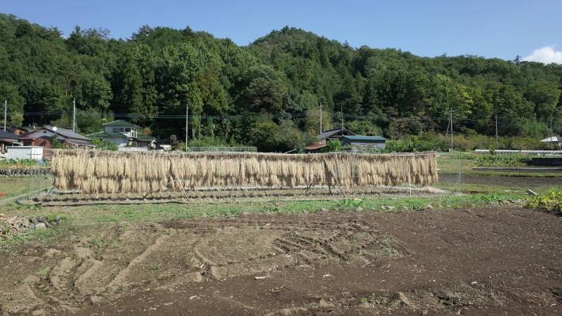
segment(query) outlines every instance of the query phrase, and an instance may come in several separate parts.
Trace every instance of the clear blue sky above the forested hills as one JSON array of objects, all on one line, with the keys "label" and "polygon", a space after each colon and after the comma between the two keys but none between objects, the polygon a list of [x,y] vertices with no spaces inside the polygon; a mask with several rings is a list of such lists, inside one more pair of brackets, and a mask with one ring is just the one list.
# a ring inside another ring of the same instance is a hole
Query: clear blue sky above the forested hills
[{"label": "clear blue sky above the forested hills", "polygon": [[354,47],[562,63],[562,0],[1,0],[0,12],[65,35],[74,25],[105,27],[115,38],[130,37],[141,25],[189,25],[247,45],[289,25]]}]

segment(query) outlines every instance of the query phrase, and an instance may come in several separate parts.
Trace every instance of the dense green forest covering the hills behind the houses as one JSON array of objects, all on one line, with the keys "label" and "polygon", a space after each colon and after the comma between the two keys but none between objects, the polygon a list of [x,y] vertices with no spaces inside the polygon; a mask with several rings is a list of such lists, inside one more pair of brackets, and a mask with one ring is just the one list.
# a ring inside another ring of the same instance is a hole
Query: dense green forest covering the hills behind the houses
[{"label": "dense green forest covering the hills behind the houses", "polygon": [[[0,13],[0,100],[8,125],[100,131],[128,119],[190,145],[301,149],[320,128],[401,138],[455,133],[542,138],[562,128],[562,65],[473,55],[421,58],[353,48],[284,27],[248,46],[190,27],[142,26],[131,39],[76,27],[67,37]],[[3,119],[3,118],[2,118]],[[193,130],[192,130],[193,128]],[[148,131],[148,129],[147,129]]]}]

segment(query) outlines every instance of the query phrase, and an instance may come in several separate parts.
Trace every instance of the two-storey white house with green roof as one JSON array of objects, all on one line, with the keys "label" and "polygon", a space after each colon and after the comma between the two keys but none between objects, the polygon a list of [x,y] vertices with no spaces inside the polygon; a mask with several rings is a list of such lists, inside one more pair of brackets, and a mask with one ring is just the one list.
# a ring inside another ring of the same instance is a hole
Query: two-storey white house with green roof
[{"label": "two-storey white house with green roof", "polygon": [[141,126],[129,123],[122,119],[110,121],[104,124],[103,131],[90,134],[89,138],[100,138],[116,143],[118,147],[126,147],[133,142],[138,143],[138,147],[156,147],[156,138],[149,135],[139,135],[138,130]]}]

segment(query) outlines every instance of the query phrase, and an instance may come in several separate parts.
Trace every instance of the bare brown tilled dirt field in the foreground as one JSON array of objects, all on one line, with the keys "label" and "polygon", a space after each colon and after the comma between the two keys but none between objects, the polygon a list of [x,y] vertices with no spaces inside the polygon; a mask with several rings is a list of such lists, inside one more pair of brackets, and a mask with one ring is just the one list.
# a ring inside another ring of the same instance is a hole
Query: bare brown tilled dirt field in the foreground
[{"label": "bare brown tilled dirt field in the foreground", "polygon": [[562,315],[561,244],[518,206],[78,228],[0,253],[0,314]]}]

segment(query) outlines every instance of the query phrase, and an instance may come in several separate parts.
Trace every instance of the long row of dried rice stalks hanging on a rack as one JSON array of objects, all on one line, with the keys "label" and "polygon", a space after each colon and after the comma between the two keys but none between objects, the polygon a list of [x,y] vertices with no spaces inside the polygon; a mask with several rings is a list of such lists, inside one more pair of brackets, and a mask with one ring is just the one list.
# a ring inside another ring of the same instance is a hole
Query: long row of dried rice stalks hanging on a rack
[{"label": "long row of dried rice stalks hanging on a rack", "polygon": [[[53,184],[84,192],[161,192],[186,187],[403,185],[437,180],[434,154],[270,154],[53,150]],[[84,183],[84,185],[82,185]]]}]

